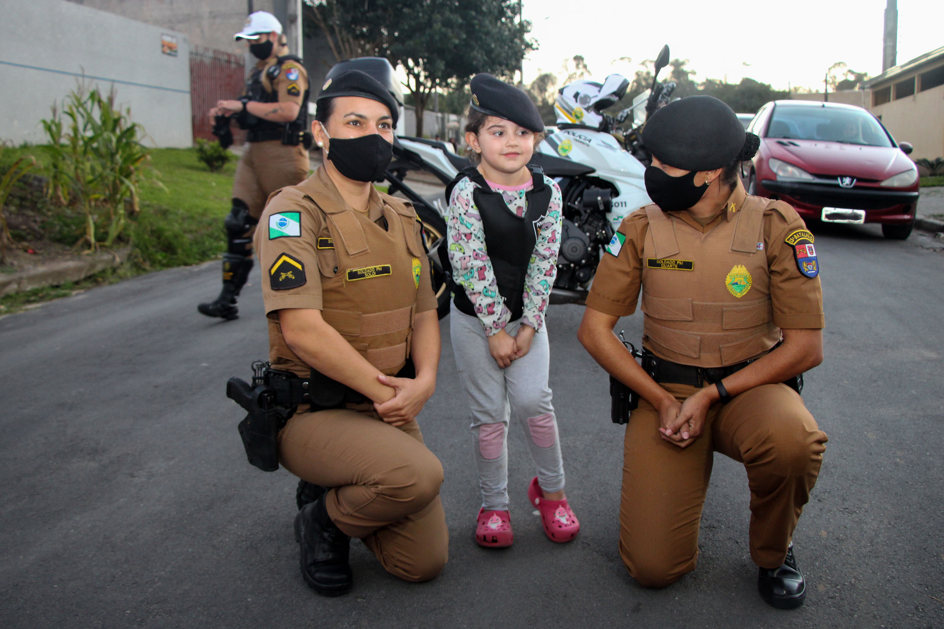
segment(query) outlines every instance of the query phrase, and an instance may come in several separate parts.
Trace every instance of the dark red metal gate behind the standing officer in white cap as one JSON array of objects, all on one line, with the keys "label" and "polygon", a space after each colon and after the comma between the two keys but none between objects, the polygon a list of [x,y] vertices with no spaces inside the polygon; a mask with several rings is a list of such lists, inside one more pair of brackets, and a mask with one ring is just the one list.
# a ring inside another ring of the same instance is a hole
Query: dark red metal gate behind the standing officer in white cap
[{"label": "dark red metal gate behind the standing officer in white cap", "polygon": [[[221,98],[235,99],[244,91],[244,58],[205,46],[190,49],[190,104],[193,111],[194,140],[215,140],[213,124],[207,115]],[[233,128],[236,143],[244,141],[244,132]]]}]

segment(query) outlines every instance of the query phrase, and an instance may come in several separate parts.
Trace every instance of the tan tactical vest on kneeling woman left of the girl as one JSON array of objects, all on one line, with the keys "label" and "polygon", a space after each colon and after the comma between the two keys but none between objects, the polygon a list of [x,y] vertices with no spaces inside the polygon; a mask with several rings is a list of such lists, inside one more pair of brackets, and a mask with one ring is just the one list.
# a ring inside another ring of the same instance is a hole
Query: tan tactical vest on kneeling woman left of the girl
[{"label": "tan tactical vest on kneeling woman left of the girl", "polygon": [[[317,179],[312,176],[279,194],[322,216],[322,233],[312,242],[321,273],[321,316],[367,362],[393,375],[410,356],[420,260],[426,255],[413,231],[416,213],[402,200],[380,194],[384,230],[366,212],[339,205]],[[308,376],[309,367],[288,347],[273,319],[269,360],[273,367]]]}]

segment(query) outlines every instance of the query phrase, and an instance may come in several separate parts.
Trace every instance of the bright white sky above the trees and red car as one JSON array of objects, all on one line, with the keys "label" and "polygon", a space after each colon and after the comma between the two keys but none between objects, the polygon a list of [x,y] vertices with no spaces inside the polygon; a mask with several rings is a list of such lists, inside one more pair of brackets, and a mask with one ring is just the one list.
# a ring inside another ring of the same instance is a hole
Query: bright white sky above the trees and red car
[{"label": "bright white sky above the trees and red car", "polygon": [[[539,49],[524,80],[540,72],[563,78],[565,58],[582,55],[593,73],[632,79],[639,62],[668,44],[688,59],[693,78],[732,83],[750,76],[774,89],[822,90],[837,61],[870,76],[882,72],[886,0],[524,0]],[[898,1],[898,63],[944,46],[944,2]],[[629,57],[631,62],[615,59]]]}]

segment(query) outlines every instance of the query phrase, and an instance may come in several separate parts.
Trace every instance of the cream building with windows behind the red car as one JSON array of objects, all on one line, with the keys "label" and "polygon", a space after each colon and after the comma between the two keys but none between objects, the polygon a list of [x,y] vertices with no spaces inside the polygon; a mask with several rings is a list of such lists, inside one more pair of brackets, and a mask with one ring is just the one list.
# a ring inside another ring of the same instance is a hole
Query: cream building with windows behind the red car
[{"label": "cream building with windows behind the red car", "polygon": [[944,156],[944,46],[888,68],[865,87],[871,112],[895,140],[914,145],[912,158]]}]

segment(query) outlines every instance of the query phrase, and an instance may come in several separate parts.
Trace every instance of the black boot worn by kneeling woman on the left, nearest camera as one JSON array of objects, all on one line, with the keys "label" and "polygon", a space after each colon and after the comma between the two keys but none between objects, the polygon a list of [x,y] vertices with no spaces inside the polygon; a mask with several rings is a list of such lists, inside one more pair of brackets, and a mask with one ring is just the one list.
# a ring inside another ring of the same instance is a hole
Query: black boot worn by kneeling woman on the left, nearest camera
[{"label": "black boot worn by kneeling woman on the left, nearest camera", "polygon": [[295,516],[295,539],[301,547],[301,575],[322,596],[340,596],[354,586],[347,563],[350,539],[335,526],[325,508],[326,494]]}]

